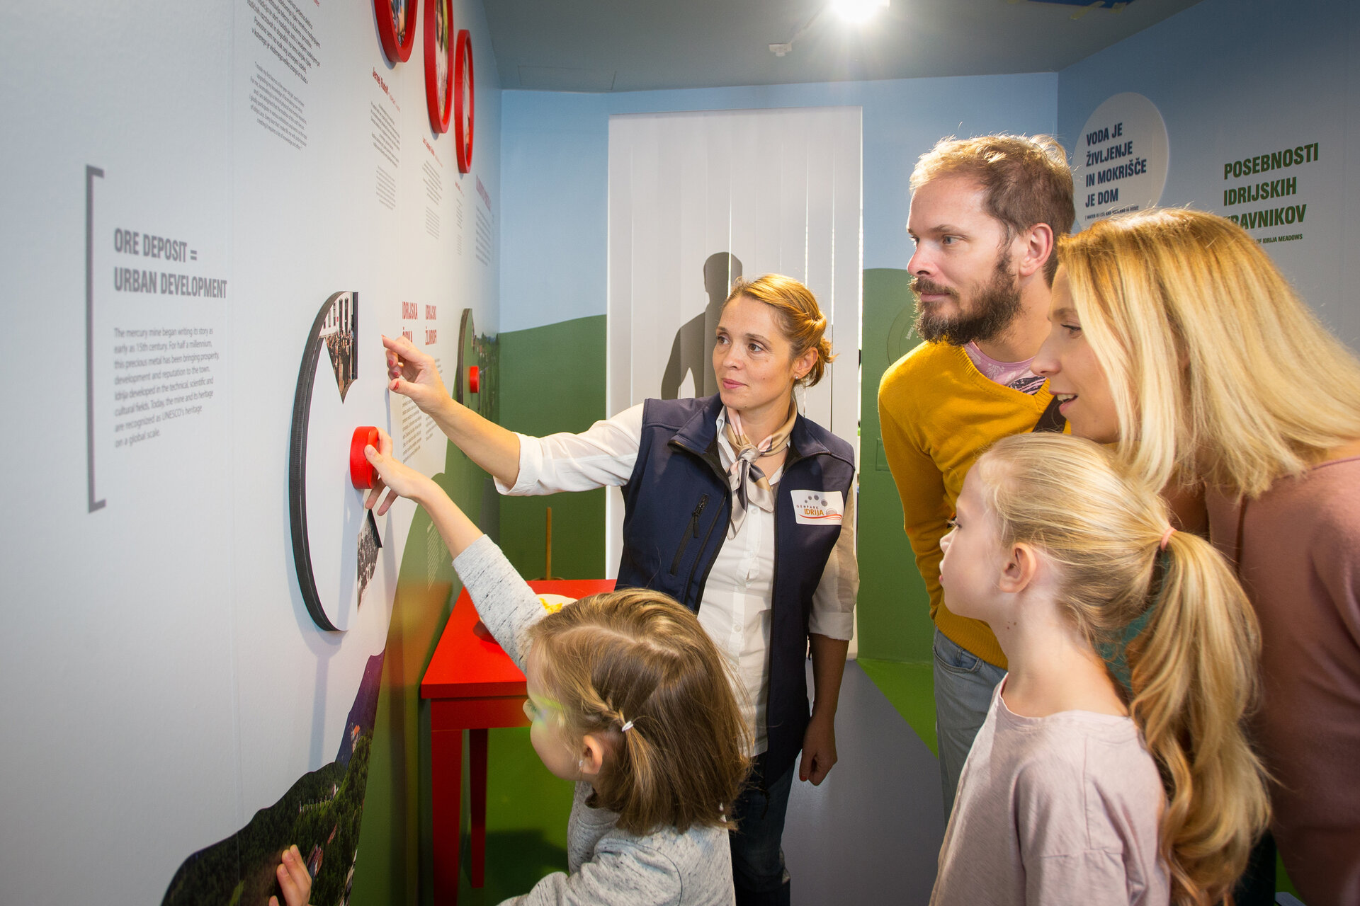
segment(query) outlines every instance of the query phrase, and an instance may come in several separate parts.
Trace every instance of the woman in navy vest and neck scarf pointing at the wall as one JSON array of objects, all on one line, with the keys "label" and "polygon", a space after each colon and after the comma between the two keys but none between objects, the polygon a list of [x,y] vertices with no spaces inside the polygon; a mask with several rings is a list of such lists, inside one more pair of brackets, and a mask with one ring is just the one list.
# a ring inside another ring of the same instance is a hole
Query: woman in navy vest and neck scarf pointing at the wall
[{"label": "woman in navy vest and neck scarf pointing at the wall", "polygon": [[392,391],[428,413],[502,493],[622,486],[619,587],[661,591],[698,613],[737,676],[755,740],[752,778],[734,805],[737,906],[789,902],[781,839],[794,773],[820,784],[836,762],[860,579],[854,451],[800,414],[793,397],[831,361],[826,327],[797,280],[737,280],[718,316],[715,395],[649,399],[585,433],[547,437],[460,406],[432,359],[384,337]]}]

